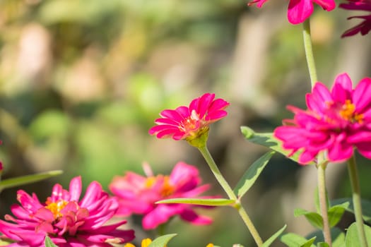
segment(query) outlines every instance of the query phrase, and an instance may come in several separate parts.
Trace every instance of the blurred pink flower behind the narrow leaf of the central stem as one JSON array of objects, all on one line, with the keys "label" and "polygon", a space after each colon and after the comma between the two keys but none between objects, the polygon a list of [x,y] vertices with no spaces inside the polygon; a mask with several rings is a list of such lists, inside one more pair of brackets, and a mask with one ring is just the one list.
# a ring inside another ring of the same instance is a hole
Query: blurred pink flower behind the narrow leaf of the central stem
[{"label": "blurred pink flower behind the narrow leaf of the central stem", "polygon": [[196,167],[178,162],[170,176],[141,176],[129,171],[115,176],[109,187],[119,198],[117,215],[143,215],[143,229],[155,229],[175,215],[192,224],[211,224],[210,218],[196,214],[194,205],[155,204],[170,198],[197,198],[209,188],[200,183]]}]

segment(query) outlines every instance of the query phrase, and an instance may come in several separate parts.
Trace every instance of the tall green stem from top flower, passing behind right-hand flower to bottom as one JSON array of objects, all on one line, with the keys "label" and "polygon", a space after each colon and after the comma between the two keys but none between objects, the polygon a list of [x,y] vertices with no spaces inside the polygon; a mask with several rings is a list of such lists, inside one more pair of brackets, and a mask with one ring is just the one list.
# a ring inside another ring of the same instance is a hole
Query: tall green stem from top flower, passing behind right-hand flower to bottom
[{"label": "tall green stem from top flower, passing behind right-hand flower to bottom", "polygon": [[[314,62],[314,54],[312,48],[312,37],[310,35],[310,18],[302,23],[302,38],[304,41],[305,57],[307,59],[308,71],[310,74],[310,85],[314,88],[317,82],[317,70],[316,64]],[[320,153],[317,156],[317,181],[318,181],[318,193],[319,193],[319,205],[321,207],[321,215],[324,224],[324,241],[331,247],[331,229],[329,225],[329,215],[327,212],[327,200],[326,200],[326,180],[325,180],[325,170],[326,162],[324,161],[324,154]]]}]

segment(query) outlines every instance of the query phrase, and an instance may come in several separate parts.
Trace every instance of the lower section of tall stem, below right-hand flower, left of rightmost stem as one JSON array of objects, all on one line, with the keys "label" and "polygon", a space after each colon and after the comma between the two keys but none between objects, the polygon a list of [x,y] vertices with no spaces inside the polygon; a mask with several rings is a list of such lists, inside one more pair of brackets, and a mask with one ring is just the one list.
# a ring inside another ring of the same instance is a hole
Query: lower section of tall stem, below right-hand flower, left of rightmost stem
[{"label": "lower section of tall stem, below right-hand flower, left of rightmost stem", "polygon": [[329,215],[327,209],[327,198],[326,198],[326,179],[325,179],[325,171],[326,171],[327,162],[322,162],[317,167],[317,183],[318,183],[318,196],[319,196],[319,207],[321,210],[321,215],[324,224],[324,241],[332,246],[331,241],[331,229],[329,224]]}]

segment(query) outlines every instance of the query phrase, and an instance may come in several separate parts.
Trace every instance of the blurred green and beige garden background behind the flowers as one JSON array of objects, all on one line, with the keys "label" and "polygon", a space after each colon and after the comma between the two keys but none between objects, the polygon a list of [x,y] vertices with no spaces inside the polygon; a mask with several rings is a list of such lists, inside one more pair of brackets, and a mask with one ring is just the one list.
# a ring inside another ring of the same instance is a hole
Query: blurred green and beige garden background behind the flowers
[{"label": "blurred green and beige garden background behind the flowers", "polygon": [[[292,116],[285,105],[305,107],[310,91],[302,27],[288,23],[282,2],[259,9],[237,0],[1,0],[3,178],[63,169],[61,176],[22,188],[45,200],[54,183],[68,186],[73,176],[81,174],[84,186],[97,180],[107,188],[115,174],[143,174],[142,162],[167,174],[182,160],[213,184],[208,195],[223,195],[196,149],[158,140],[148,129],[162,109],[189,104],[204,92],[228,100],[229,115],[211,126],[209,147],[235,186],[266,152],[247,143],[240,126],[273,131]],[[318,77],[327,85],[338,73],[349,73],[354,83],[371,76],[370,36],[340,39],[357,22],[348,16],[316,8],[312,18]],[[371,198],[370,164],[359,160],[363,197]],[[331,198],[351,196],[345,168],[329,166]],[[263,239],[285,223],[298,234],[313,230],[293,217],[293,209],[314,208],[316,183],[314,167],[273,157],[244,199]],[[0,215],[16,203],[18,189],[1,193]],[[167,233],[178,236],[170,246],[254,246],[232,209],[204,213],[215,218],[211,227],[173,220]],[[134,222],[129,227],[137,229]],[[139,238],[152,234],[136,232]]]}]

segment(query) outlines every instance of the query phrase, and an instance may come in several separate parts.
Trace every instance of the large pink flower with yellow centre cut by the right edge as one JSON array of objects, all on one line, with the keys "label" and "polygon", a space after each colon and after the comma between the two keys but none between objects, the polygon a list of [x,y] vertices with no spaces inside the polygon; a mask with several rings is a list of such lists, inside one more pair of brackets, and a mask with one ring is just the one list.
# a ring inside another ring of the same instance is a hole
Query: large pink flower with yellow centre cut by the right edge
[{"label": "large pink flower with yellow centre cut by the right edge", "polygon": [[371,159],[371,78],[363,78],[353,89],[351,78],[343,73],[329,91],[316,83],[307,94],[308,109],[293,106],[295,116],[286,119],[286,126],[276,128],[274,135],[283,147],[302,150],[299,162],[311,162],[325,151],[331,162],[342,162],[353,155],[353,147]]}]

